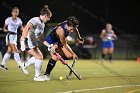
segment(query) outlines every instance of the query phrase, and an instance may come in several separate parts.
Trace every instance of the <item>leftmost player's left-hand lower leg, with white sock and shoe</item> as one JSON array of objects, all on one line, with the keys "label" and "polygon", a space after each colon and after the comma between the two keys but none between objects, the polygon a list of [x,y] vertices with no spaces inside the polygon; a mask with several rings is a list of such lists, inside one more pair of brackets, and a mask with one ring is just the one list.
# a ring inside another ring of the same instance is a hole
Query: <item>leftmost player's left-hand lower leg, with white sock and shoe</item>
[{"label": "leftmost player's left-hand lower leg, with white sock and shoe", "polygon": [[9,60],[10,56],[11,56],[11,52],[12,49],[10,48],[10,46],[7,46],[7,52],[5,53],[2,63],[0,65],[1,68],[3,68],[4,70],[7,70],[8,68],[6,67],[6,63]]}]

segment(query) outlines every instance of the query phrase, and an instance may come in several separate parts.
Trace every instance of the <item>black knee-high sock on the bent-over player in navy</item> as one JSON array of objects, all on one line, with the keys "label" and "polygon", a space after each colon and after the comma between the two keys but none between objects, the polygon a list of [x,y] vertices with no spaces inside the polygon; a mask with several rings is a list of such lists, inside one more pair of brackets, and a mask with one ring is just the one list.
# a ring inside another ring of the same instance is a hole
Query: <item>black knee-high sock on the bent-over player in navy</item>
[{"label": "black knee-high sock on the bent-over player in navy", "polygon": [[51,58],[49,60],[49,63],[47,65],[46,72],[45,72],[44,75],[50,75],[50,73],[51,73],[52,69],[54,68],[55,64],[56,64],[56,61]]}]

